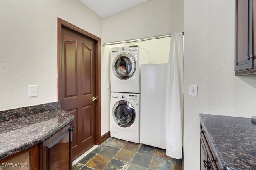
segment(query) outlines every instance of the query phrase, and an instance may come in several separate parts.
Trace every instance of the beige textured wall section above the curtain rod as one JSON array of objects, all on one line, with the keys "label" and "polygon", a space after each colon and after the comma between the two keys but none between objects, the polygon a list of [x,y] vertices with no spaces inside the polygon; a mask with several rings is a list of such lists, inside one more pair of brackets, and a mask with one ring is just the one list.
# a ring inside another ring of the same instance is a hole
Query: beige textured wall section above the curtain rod
[{"label": "beige textured wall section above the curtain rod", "polygon": [[183,0],[150,0],[103,19],[103,43],[183,31]]}]

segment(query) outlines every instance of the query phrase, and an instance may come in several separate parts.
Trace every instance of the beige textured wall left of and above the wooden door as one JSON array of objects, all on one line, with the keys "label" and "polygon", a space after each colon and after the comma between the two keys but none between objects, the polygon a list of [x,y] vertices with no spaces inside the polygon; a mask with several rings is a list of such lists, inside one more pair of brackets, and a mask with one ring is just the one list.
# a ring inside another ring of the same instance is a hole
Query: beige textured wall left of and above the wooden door
[{"label": "beige textured wall left of and above the wooden door", "polygon": [[[0,110],[57,101],[57,17],[98,37],[102,18],[78,0],[0,4]],[[28,98],[34,84],[38,96]]]}]

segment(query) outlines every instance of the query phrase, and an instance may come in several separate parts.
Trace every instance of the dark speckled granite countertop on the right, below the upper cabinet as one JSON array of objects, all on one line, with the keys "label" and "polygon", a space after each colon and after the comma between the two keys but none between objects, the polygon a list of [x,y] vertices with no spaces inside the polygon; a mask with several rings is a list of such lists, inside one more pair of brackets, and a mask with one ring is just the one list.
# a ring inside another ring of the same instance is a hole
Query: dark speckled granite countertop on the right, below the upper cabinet
[{"label": "dark speckled granite countertop on the right, below the upper cabinet", "polygon": [[250,118],[199,116],[224,170],[256,170],[256,125]]}]

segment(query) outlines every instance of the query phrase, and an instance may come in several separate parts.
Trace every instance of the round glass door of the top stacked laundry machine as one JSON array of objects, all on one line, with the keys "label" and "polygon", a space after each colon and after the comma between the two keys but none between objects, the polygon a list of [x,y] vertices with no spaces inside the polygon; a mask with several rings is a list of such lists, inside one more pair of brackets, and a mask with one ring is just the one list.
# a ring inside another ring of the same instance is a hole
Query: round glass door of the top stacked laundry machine
[{"label": "round glass door of the top stacked laundry machine", "polygon": [[128,79],[136,70],[135,60],[132,55],[128,53],[120,53],[114,59],[112,70],[117,78],[121,80]]}]

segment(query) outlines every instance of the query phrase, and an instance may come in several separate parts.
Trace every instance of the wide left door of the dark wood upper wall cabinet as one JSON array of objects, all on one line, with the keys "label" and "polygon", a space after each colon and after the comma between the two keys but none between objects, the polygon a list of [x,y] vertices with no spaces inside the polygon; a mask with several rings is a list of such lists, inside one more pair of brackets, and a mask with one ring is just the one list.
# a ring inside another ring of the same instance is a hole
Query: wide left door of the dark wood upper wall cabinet
[{"label": "wide left door of the dark wood upper wall cabinet", "polygon": [[235,70],[252,68],[252,0],[236,0]]}]

